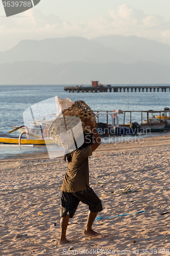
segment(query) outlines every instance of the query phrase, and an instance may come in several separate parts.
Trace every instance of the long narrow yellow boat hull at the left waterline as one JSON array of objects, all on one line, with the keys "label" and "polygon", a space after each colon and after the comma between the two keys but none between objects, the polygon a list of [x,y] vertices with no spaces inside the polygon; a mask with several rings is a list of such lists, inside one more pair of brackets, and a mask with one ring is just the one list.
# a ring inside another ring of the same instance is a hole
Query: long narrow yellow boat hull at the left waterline
[{"label": "long narrow yellow boat hull at the left waterline", "polygon": [[[18,138],[7,138],[0,137],[0,143],[2,144],[19,144]],[[20,144],[34,144],[34,145],[45,145],[45,144],[54,144],[52,139],[21,139]]]}]

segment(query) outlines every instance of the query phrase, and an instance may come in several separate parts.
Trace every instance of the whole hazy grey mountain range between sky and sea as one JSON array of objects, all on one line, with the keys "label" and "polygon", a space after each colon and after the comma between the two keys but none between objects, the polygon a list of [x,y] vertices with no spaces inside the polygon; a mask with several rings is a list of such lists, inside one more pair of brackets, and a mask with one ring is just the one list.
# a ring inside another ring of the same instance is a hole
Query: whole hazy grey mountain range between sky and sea
[{"label": "whole hazy grey mountain range between sky and sea", "polygon": [[0,84],[169,83],[170,46],[136,36],[23,40],[0,52]]}]

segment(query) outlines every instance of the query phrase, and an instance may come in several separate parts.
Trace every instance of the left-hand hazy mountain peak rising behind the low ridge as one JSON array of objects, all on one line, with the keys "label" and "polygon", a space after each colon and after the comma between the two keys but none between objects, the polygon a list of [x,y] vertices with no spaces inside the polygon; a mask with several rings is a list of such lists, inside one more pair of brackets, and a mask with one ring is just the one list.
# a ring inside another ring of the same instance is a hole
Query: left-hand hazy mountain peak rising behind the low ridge
[{"label": "left-hand hazy mountain peak rising behind the low ridge", "polygon": [[66,37],[40,41],[23,40],[12,49],[0,52],[0,64],[16,61],[40,61],[54,64],[72,61],[134,63],[138,59],[83,37]]}]

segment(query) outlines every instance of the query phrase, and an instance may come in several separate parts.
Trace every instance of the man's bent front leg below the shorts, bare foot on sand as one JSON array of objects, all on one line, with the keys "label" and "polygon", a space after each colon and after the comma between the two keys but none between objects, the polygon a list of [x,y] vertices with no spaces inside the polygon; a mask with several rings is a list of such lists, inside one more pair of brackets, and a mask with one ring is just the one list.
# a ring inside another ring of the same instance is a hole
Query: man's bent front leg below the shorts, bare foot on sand
[{"label": "man's bent front leg below the shorts, bare foot on sand", "polygon": [[83,234],[85,234],[85,236],[90,236],[90,237],[101,236],[101,233],[98,233],[98,232],[95,232],[94,230],[92,230],[92,224],[97,215],[98,215],[98,212],[92,212],[89,210],[87,224],[83,231]]}]

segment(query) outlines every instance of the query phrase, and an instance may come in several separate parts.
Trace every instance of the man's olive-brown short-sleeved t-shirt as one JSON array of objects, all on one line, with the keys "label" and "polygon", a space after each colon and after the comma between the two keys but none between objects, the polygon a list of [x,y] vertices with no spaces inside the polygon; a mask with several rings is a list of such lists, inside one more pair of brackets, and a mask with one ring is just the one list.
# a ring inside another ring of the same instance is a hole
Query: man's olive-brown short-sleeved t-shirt
[{"label": "man's olive-brown short-sleeved t-shirt", "polygon": [[88,157],[92,156],[91,146],[71,153],[72,159],[68,163],[61,190],[64,192],[79,192],[89,186]]}]

